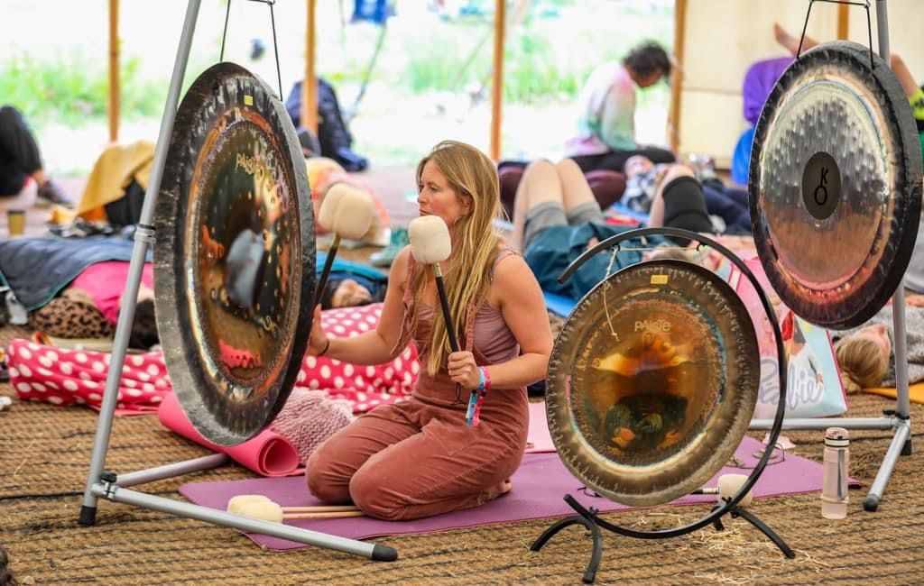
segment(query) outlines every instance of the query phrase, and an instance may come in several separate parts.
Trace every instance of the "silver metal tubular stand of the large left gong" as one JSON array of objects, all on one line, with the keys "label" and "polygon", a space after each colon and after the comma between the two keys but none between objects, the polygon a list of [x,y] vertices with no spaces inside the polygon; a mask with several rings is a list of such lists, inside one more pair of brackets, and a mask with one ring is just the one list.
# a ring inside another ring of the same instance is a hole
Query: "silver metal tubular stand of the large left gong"
[{"label": "silver metal tubular stand of the large left gong", "polygon": [[[274,0],[257,0],[268,4],[271,8]],[[166,464],[149,470],[118,474],[104,470],[106,451],[112,433],[113,417],[118,398],[119,381],[125,362],[128,348],[128,337],[135,314],[135,300],[140,288],[141,270],[148,253],[148,247],[154,244],[154,218],[155,201],[160,193],[161,182],[164,177],[164,166],[167,160],[171,143],[171,134],[176,120],[177,104],[188,64],[189,51],[192,44],[193,32],[199,13],[201,0],[188,0],[183,30],[176,50],[173,75],[170,79],[167,99],[164,105],[164,116],[161,121],[157,145],[154,151],[151,180],[144,197],[140,221],[135,232],[135,244],[132,249],[131,263],[128,269],[125,299],[126,303],[119,313],[116,325],[116,337],[111,356],[111,368],[106,378],[103,404],[93,442],[93,451],[90,472],[87,476],[86,489],[83,495],[83,504],[80,508],[79,523],[81,525],[94,525],[96,522],[97,500],[105,498],[118,503],[125,503],[134,507],[150,508],[152,510],[169,513],[177,517],[196,519],[216,525],[231,527],[243,532],[255,532],[272,535],[296,541],[303,544],[317,545],[337,551],[365,556],[374,560],[393,561],[397,559],[394,548],[382,544],[371,544],[353,539],[346,539],[322,532],[291,527],[282,523],[273,523],[265,520],[256,520],[240,515],[233,515],[213,508],[191,505],[186,502],[163,496],[153,496],[128,486],[144,484],[165,478],[173,478],[188,472],[197,472],[215,468],[228,461],[225,454],[213,454],[195,460],[186,460]],[[294,134],[294,130],[293,130]]]}]

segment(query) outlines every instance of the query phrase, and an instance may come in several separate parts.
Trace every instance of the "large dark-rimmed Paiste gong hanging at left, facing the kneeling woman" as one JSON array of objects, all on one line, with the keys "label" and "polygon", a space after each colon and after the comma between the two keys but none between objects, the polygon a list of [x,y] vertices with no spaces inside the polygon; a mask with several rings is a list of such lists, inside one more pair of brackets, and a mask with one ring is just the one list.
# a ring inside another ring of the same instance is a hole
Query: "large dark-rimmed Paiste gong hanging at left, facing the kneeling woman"
[{"label": "large dark-rimmed Paiste gong hanging at left, facing the kneeling woman", "polygon": [[246,441],[296,381],[315,286],[298,137],[246,69],[220,63],[187,91],[155,225],[157,327],[176,398],[209,441]]}]

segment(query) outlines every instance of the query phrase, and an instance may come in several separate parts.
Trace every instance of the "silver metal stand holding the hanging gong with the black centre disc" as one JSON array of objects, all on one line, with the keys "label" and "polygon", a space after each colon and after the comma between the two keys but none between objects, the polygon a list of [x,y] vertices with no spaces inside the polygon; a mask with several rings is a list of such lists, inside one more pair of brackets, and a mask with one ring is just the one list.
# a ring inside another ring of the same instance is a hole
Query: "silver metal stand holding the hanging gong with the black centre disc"
[{"label": "silver metal stand holding the hanging gong with the black centre disc", "polygon": [[[832,2],[834,4],[846,4],[853,6],[865,6],[867,10],[867,21],[869,28],[869,57],[872,60],[872,27],[869,24],[869,0],[864,0],[864,4],[859,2],[847,2],[844,0],[809,0],[808,11],[806,14],[806,27],[808,26],[808,17],[811,13],[811,6],[816,1]],[[888,14],[886,11],[886,0],[876,0],[876,25],[879,37],[879,56],[889,62],[889,25]],[[802,35],[805,36],[805,28]],[[801,48],[801,41],[800,41]],[[871,64],[870,64],[871,65]],[[916,139],[917,141],[917,139]],[[757,146],[757,145],[755,145]],[[751,163],[753,166],[753,162]],[[918,161],[918,165],[920,161]],[[919,180],[919,176],[918,176]],[[918,197],[919,197],[919,191]],[[752,218],[753,220],[753,218]],[[917,230],[918,219],[915,219],[914,226]],[[913,241],[912,241],[913,242]],[[763,260],[763,258],[761,258]],[[904,271],[903,273],[904,274]],[[901,277],[901,275],[899,275]],[[895,408],[883,412],[882,417],[869,418],[787,418],[784,420],[784,429],[826,429],[831,425],[845,427],[846,429],[882,429],[892,430],[892,442],[886,451],[879,472],[876,478],[869,486],[869,492],[863,501],[863,508],[867,511],[875,511],[879,508],[882,493],[885,491],[885,485],[889,482],[895,463],[899,456],[911,455],[911,403],[908,391],[908,363],[907,363],[907,336],[905,320],[905,288],[899,281],[893,294],[893,324],[894,324],[894,364],[895,364]],[[811,320],[809,320],[811,321]],[[781,363],[783,364],[783,363]],[[781,398],[781,404],[782,404]],[[771,425],[776,425],[776,421],[771,422],[769,419],[754,419],[751,421],[750,429],[768,429]]]}]

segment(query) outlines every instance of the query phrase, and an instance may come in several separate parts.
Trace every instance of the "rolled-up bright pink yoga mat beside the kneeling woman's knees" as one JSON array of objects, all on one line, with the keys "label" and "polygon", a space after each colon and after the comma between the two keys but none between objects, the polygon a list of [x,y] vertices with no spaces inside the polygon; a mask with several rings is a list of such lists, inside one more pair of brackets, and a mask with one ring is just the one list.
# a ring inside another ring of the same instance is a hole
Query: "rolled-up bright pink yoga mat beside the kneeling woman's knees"
[{"label": "rolled-up bright pink yoga mat beside the kneeling woman's knees", "polygon": [[179,401],[176,401],[176,393],[167,393],[164,396],[157,416],[167,429],[201,446],[224,452],[241,466],[262,476],[290,476],[305,472],[305,469],[299,466],[296,448],[274,431],[261,431],[259,435],[243,444],[231,447],[217,446],[208,441],[189,422],[186,412]]}]

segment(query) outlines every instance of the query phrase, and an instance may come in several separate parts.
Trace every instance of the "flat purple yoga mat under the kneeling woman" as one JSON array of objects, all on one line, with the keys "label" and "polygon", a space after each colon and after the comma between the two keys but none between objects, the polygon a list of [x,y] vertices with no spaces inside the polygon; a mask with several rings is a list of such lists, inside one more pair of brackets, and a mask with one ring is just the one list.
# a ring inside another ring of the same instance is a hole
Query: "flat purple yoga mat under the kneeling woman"
[{"label": "flat purple yoga mat under the kneeling woman", "polygon": [[[745,437],[736,450],[736,456],[746,466],[753,466],[757,461],[753,454],[761,448],[762,444],[758,440]],[[716,478],[724,473],[749,474],[750,470],[727,467],[716,474]],[[716,478],[707,485],[715,486]],[[565,464],[558,459],[557,453],[527,454],[512,482],[513,490],[490,503],[428,519],[388,521],[354,517],[287,520],[286,523],[349,539],[364,539],[400,533],[438,532],[492,523],[565,517],[575,514],[575,510],[568,507],[564,501],[567,494],[574,496],[584,507],[595,507],[602,512],[630,509],[601,496],[588,496],[592,495],[591,491],[586,491],[588,494],[585,494],[585,491],[581,490],[583,486],[580,481],[567,471]],[[821,491],[821,464],[792,454],[786,454],[784,460],[768,465],[754,486],[754,496],[757,498],[813,491]],[[227,507],[228,499],[237,495],[265,495],[283,507],[323,504],[310,496],[304,478],[298,476],[190,483],[180,486],[179,492],[193,503],[222,510]],[[684,496],[673,504],[711,504],[715,499],[715,496]],[[709,510],[708,506],[703,506],[702,514],[706,515]],[[270,549],[306,547],[305,544],[267,535],[248,533],[248,537],[256,544]]]}]

